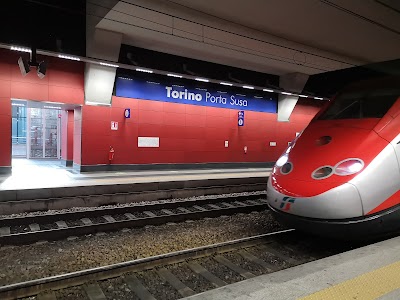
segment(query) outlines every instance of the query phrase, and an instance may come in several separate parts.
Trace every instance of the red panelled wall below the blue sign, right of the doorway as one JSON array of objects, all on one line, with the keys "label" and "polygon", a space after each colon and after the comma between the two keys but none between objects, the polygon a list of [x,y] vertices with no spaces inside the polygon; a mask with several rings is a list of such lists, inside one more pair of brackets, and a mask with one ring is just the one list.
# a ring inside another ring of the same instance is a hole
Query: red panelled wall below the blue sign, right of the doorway
[{"label": "red panelled wall below the blue sign, right of the doorway", "polygon": [[[285,123],[278,123],[276,114],[245,111],[245,125],[238,127],[237,110],[113,97],[111,108],[82,108],[82,165],[107,164],[110,146],[113,164],[272,162],[308,124],[318,104],[299,100]],[[124,118],[125,108],[131,109],[130,119]],[[111,130],[111,121],[118,122],[117,131]],[[138,136],[159,137],[160,147],[138,148]]]}]

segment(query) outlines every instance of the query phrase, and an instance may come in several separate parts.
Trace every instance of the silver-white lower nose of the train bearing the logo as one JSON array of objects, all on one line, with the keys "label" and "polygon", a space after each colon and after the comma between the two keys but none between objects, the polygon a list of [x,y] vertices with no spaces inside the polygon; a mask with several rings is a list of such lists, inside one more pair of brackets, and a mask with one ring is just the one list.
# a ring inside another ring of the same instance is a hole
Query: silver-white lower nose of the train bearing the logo
[{"label": "silver-white lower nose of the train bearing the logo", "polygon": [[[307,183],[309,188],[318,183]],[[276,210],[297,216],[317,219],[345,219],[363,215],[363,206],[357,188],[345,183],[312,197],[291,196],[276,190],[271,184],[267,187],[268,204]]]}]

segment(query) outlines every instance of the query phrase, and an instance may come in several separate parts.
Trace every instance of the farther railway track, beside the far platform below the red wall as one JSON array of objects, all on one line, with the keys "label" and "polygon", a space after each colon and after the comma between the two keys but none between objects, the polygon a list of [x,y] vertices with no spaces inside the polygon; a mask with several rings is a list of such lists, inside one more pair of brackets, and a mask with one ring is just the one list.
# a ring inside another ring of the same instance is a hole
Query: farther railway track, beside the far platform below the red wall
[{"label": "farther railway track, beside the far platform below the red wall", "polygon": [[161,225],[267,209],[263,192],[253,195],[208,196],[201,200],[170,201],[92,210],[0,219],[0,245],[29,244],[71,236]]}]

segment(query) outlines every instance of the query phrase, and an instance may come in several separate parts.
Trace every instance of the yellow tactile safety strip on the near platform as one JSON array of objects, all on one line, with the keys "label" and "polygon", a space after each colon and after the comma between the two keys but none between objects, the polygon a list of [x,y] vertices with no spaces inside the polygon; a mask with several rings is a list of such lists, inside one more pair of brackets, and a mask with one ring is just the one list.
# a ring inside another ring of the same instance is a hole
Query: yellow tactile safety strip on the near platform
[{"label": "yellow tactile safety strip on the near platform", "polygon": [[362,274],[299,300],[369,300],[400,288],[400,261]]}]

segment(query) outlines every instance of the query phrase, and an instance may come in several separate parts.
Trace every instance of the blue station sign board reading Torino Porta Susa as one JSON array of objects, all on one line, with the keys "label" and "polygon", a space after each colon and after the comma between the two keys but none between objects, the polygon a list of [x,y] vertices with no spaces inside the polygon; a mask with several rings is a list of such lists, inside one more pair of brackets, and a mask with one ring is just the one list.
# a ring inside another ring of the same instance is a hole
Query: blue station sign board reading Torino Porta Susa
[{"label": "blue station sign board reading Torino Porta Susa", "polygon": [[182,85],[166,86],[157,82],[122,77],[116,80],[116,96],[236,110],[277,112],[277,100],[269,94],[263,98],[256,98],[247,91],[243,91],[243,94],[232,94],[225,92],[223,88],[212,91],[186,88]]}]

